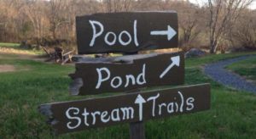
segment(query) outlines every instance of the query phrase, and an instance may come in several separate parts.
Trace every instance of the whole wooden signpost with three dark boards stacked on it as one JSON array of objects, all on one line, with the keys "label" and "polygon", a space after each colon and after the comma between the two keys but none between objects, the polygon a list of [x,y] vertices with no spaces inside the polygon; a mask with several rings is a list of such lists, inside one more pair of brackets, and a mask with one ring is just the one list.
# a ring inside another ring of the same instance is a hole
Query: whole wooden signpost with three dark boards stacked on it
[{"label": "whole wooden signpost with three dark boards stacked on it", "polygon": [[[190,114],[210,108],[210,85],[184,84],[184,55],[137,54],[177,47],[176,12],[92,14],[76,18],[79,54],[125,53],[124,56],[73,57],[71,95],[126,92],[111,97],[46,103],[39,111],[56,134],[109,125],[130,124],[130,136],[145,138],[144,121]],[[132,55],[129,55],[131,54]],[[138,91],[154,86],[169,89]]]}]

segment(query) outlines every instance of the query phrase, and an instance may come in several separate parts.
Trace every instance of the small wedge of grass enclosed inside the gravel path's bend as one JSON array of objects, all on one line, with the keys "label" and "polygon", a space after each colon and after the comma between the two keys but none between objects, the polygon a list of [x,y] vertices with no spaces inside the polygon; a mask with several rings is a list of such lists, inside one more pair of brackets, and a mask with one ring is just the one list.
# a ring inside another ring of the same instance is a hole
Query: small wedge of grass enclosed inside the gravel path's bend
[{"label": "small wedge of grass enclosed inside the gravel path's bend", "polygon": [[256,83],[256,57],[248,58],[235,64],[230,64],[227,69],[230,69]]}]

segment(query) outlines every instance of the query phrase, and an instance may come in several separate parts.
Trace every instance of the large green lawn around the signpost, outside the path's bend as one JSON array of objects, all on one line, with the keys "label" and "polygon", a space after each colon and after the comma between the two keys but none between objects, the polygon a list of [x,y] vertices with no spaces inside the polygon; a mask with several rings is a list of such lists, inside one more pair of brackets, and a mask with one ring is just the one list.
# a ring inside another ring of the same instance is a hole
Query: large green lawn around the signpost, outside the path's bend
[{"label": "large green lawn around the signpost, outside the path's bend", "polygon": [[[256,95],[230,90],[201,73],[203,64],[243,54],[186,59],[185,83],[210,82],[212,108],[149,120],[145,125],[146,138],[256,138]],[[22,60],[9,54],[0,55],[0,64],[12,64],[17,69],[0,73],[0,138],[55,138],[44,116],[38,113],[38,105],[84,98],[68,94],[71,80],[67,75],[74,72],[74,67]],[[255,72],[251,73],[255,77]],[[80,131],[58,138],[129,138],[129,125]]]}]

